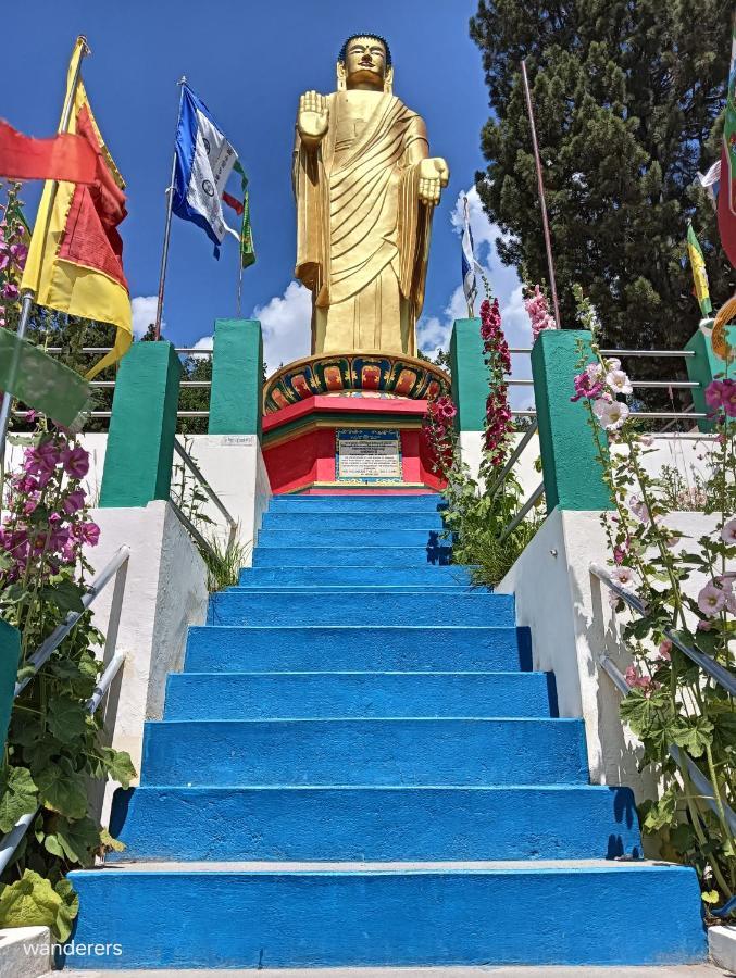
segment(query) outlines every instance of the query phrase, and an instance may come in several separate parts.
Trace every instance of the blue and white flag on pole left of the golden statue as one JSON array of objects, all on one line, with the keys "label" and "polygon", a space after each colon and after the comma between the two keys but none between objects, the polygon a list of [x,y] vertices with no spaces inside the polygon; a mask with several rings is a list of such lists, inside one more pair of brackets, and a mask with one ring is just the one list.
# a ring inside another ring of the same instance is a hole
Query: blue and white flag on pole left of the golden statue
[{"label": "blue and white flag on pole left of the golden statue", "polygon": [[176,128],[176,167],[172,210],[205,231],[220,258],[226,234],[237,234],[225,224],[222,196],[238,159],[204,102],[186,83],[182,85],[182,109]]}]

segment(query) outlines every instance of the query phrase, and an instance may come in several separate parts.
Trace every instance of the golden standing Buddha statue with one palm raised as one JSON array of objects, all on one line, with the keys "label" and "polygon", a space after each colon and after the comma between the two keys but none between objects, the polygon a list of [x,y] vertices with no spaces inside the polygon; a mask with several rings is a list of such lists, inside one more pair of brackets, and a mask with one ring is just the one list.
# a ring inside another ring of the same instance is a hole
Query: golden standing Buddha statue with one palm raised
[{"label": "golden standing Buddha statue with one palm raised", "polygon": [[447,186],[424,121],[392,95],[387,42],[355,35],[337,91],[299,101],[296,276],[312,292],[312,354],[416,355],[432,214]]}]

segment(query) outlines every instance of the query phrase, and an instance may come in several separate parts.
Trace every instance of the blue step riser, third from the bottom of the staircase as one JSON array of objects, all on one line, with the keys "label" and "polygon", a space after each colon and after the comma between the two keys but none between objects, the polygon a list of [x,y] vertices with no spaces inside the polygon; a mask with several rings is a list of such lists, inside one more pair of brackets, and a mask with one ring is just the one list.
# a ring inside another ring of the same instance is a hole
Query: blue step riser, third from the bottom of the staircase
[{"label": "blue step riser, third from the bottom of the staircase", "polygon": [[586,782],[578,719],[149,722],[141,783]]}]

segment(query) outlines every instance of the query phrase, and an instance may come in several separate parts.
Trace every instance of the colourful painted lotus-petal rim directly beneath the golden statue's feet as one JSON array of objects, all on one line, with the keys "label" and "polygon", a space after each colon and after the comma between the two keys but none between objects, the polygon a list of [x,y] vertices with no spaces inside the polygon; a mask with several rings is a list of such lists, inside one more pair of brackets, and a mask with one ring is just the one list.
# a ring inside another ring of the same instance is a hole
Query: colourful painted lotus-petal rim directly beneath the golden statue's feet
[{"label": "colourful painted lotus-petal rim directly beneath the golden statue's feet", "polygon": [[282,367],[265,385],[263,406],[273,414],[315,394],[376,391],[412,401],[449,392],[450,378],[439,367],[413,356],[390,353],[326,353]]}]

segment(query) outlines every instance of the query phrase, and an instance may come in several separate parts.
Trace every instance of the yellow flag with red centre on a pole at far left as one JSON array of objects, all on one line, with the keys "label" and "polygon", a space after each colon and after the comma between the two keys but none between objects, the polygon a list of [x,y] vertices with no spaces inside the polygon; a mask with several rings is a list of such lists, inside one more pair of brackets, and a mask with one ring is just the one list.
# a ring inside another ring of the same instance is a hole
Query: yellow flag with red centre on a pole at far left
[{"label": "yellow flag with red centre on a pole at far left", "polygon": [[85,40],[78,38],[68,66],[64,106],[72,104],[66,131],[83,137],[95,151],[95,180],[87,185],[47,181],[21,289],[33,291],[39,305],[117,327],[112,352],[87,374],[91,378],[127,352],[133,327],[117,233],[127,213],[125,183],[104,145],[79,77],[84,50]]}]

